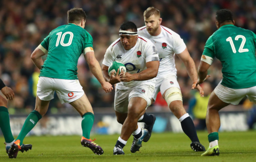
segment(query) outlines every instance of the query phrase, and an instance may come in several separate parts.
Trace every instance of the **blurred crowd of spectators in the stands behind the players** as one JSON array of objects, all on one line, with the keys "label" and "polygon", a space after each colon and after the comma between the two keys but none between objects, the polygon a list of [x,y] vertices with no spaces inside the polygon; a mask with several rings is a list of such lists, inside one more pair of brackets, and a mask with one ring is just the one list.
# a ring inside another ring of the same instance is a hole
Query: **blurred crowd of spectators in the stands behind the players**
[{"label": "blurred crowd of spectators in the stands behind the players", "polygon": [[[150,6],[161,11],[163,26],[184,39],[197,67],[206,40],[216,31],[218,9],[230,9],[236,26],[256,32],[255,0],[1,0],[0,78],[15,92],[14,100],[8,103],[10,114],[34,109],[39,70],[30,55],[52,29],[67,24],[69,9],[79,7],[86,12],[85,29],[92,35],[96,58],[102,63],[106,49],[119,37],[122,22],[144,26],[143,12]],[[195,90],[191,91],[191,80],[178,58],[176,68],[186,106]],[[221,63],[215,60],[209,73],[208,81],[215,87],[222,79]],[[78,61],[78,78],[93,107],[113,107],[114,92],[103,92],[83,57]],[[155,106],[161,104],[165,105],[160,101]],[[70,110],[57,96],[50,107],[53,112]]]}]

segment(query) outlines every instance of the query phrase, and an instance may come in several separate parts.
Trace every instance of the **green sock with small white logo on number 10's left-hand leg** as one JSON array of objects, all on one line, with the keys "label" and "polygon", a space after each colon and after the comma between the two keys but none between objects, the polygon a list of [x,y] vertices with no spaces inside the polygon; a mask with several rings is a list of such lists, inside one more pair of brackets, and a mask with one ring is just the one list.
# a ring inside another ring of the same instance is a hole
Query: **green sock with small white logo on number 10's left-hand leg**
[{"label": "green sock with small white logo on number 10's left-hand leg", "polygon": [[24,122],[24,125],[22,126],[19,136],[16,139],[16,140],[20,140],[20,145],[23,144],[23,140],[25,136],[33,129],[33,127],[35,127],[36,123],[41,118],[42,116],[38,111],[33,110],[32,112],[30,112],[30,114],[28,115],[28,117]]}]

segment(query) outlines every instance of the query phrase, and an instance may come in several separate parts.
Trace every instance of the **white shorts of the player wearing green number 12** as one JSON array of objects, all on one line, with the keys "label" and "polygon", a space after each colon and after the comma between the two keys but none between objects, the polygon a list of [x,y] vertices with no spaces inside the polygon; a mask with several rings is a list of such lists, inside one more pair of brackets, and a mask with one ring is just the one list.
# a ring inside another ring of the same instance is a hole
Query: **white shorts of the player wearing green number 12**
[{"label": "white shorts of the player wearing green number 12", "polygon": [[233,89],[225,87],[221,84],[222,80],[219,82],[217,87],[215,87],[214,92],[221,101],[225,103],[230,103],[232,105],[238,105],[239,102],[247,96],[247,98],[256,103],[256,86],[249,88]]}]

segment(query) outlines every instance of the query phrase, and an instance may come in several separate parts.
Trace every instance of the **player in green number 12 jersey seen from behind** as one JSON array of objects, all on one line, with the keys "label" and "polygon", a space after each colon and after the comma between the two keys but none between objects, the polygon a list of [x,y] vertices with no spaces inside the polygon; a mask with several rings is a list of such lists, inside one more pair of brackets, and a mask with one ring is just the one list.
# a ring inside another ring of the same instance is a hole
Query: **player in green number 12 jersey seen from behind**
[{"label": "player in green number 12 jersey seen from behind", "polygon": [[201,84],[216,57],[222,63],[223,79],[211,93],[208,101],[206,126],[209,148],[201,156],[219,155],[219,134],[221,122],[219,110],[229,104],[237,105],[247,96],[256,102],[256,35],[247,29],[234,26],[231,11],[216,12],[217,31],[209,37],[198,67],[198,81]]}]

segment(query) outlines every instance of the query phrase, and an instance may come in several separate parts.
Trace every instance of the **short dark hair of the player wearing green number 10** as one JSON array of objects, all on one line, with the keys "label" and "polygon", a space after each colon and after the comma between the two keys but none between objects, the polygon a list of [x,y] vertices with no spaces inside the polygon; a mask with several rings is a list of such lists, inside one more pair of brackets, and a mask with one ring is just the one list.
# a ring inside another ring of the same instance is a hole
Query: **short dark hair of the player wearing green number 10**
[{"label": "short dark hair of the player wearing green number 10", "polygon": [[82,8],[72,8],[67,11],[68,23],[79,23],[82,20],[86,20],[87,15]]}]

